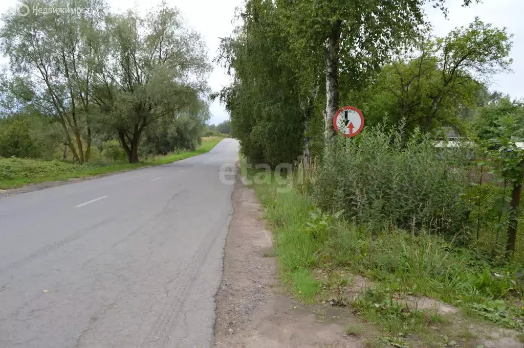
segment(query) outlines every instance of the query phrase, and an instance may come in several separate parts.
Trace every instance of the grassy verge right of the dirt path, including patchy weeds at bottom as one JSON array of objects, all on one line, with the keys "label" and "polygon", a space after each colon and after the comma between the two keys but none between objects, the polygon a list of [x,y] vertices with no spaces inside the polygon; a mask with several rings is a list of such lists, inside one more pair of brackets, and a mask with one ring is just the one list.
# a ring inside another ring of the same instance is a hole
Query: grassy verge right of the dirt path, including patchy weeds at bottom
[{"label": "grassy verge right of the dirt path, including patchy weeds at bottom", "polygon": [[[248,177],[254,173],[248,172]],[[312,303],[335,294],[335,304],[351,304],[387,333],[387,344],[398,346],[409,333],[433,340],[431,329],[447,323],[434,310],[405,305],[401,299],[407,297],[440,299],[459,307],[466,317],[522,330],[521,264],[497,264],[474,246],[463,248],[457,240],[422,231],[372,233],[320,211],[313,196],[301,189],[281,188],[275,180],[254,185],[275,234],[281,277],[298,299]],[[363,275],[375,285],[344,298],[351,274]],[[460,335],[456,328],[450,330],[456,331],[454,338]],[[444,335],[434,341],[439,346],[455,342]]]}]

